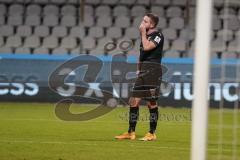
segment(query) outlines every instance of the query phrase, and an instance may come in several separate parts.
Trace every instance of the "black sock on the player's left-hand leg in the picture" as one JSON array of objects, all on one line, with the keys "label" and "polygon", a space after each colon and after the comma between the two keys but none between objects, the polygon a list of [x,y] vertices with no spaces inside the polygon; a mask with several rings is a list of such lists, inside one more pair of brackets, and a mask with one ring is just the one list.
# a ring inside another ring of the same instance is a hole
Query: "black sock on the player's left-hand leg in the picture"
[{"label": "black sock on the player's left-hand leg in the picture", "polygon": [[139,108],[138,107],[130,107],[128,133],[135,132],[138,116],[139,116]]}]

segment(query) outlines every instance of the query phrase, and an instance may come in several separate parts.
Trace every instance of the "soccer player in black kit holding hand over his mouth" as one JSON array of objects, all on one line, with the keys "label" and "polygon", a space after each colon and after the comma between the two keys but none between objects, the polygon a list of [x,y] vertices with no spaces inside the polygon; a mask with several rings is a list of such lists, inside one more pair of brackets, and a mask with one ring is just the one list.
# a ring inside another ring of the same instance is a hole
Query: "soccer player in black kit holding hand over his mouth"
[{"label": "soccer player in black kit holding hand over his mouth", "polygon": [[[139,117],[139,104],[141,99],[147,101],[150,116],[149,132],[139,140],[156,140],[156,127],[158,121],[157,97],[161,84],[161,59],[164,37],[157,29],[158,17],[153,13],[147,13],[139,26],[141,35],[140,56],[138,62],[137,79],[135,81],[132,95],[129,99],[129,129],[116,139],[136,139],[135,127]],[[135,96],[134,93],[141,93],[145,96]],[[148,92],[148,94],[146,93]],[[152,95],[152,96],[149,96]]]}]

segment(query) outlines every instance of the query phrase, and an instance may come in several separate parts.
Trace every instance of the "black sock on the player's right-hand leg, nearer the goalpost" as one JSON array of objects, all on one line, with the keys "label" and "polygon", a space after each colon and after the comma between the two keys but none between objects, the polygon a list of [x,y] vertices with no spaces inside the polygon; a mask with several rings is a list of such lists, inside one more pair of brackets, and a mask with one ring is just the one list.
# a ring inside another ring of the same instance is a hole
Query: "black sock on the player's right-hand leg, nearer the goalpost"
[{"label": "black sock on the player's right-hand leg, nearer the goalpost", "polygon": [[155,133],[158,121],[158,107],[149,109],[150,133]]}]

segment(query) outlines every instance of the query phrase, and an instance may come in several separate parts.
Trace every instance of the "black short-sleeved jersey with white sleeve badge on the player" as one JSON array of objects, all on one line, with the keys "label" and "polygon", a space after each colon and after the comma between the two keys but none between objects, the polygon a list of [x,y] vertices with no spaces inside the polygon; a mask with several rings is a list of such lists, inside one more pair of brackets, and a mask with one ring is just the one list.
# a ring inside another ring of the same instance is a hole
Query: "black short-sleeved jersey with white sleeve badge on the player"
[{"label": "black short-sleeved jersey with white sleeve badge on the player", "polygon": [[160,31],[154,31],[153,33],[147,35],[147,39],[152,41],[156,47],[150,51],[143,50],[143,44],[140,44],[140,62],[150,61],[161,63],[162,60],[162,50],[163,50],[163,43],[164,37]]}]

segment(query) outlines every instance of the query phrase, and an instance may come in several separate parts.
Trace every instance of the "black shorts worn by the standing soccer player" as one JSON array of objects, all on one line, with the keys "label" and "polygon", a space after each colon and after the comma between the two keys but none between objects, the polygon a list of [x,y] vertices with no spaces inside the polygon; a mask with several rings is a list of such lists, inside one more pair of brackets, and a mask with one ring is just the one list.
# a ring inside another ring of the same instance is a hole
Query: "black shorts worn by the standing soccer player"
[{"label": "black shorts worn by the standing soccer player", "polygon": [[131,96],[141,97],[145,100],[157,100],[162,80],[160,63],[144,62],[140,64],[138,75]]}]

